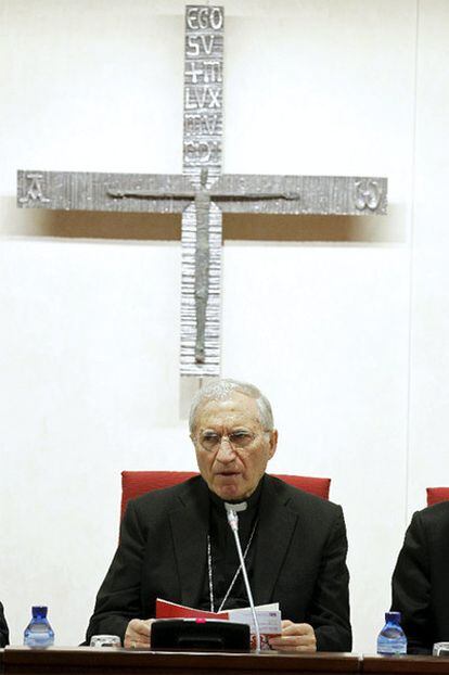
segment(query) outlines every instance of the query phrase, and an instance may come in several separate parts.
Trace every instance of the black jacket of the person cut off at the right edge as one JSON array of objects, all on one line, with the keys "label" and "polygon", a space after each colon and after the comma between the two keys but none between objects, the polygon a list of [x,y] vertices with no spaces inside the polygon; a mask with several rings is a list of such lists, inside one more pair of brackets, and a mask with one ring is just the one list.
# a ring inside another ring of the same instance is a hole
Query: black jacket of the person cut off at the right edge
[{"label": "black jacket of the person cut off at the right edge", "polygon": [[413,514],[392,591],[409,653],[428,653],[434,642],[449,640],[449,501]]}]

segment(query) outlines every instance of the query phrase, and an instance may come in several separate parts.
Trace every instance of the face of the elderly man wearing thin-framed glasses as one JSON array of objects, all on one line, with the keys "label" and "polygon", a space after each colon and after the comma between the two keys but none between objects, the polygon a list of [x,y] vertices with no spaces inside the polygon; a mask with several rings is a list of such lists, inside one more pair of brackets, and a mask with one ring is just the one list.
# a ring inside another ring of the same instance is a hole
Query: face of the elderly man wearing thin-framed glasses
[{"label": "face of the elderly man wearing thin-framed glasses", "polygon": [[274,455],[278,432],[265,432],[256,400],[233,392],[198,409],[192,433],[196,461],[209,489],[224,500],[249,497]]}]

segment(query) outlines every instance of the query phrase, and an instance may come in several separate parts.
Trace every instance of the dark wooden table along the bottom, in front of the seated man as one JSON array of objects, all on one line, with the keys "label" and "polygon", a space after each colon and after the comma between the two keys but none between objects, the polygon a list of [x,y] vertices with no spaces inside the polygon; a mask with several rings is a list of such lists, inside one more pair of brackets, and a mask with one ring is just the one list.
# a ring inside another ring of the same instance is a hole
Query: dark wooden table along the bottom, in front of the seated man
[{"label": "dark wooden table along the bottom, in front of the seated man", "polygon": [[379,657],[319,652],[282,654],[181,652],[90,647],[51,647],[36,650],[7,647],[0,650],[4,675],[63,673],[82,675],[249,675],[281,673],[369,673],[370,675],[449,675],[449,658]]}]

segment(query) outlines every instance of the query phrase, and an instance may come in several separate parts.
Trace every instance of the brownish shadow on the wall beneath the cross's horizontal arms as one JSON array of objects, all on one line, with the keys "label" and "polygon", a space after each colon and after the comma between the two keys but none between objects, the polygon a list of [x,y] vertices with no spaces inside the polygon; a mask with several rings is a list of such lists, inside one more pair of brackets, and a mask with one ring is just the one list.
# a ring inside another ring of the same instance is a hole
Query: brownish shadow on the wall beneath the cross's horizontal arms
[{"label": "brownish shadow on the wall beneath the cross's horizontal arms", "polygon": [[[223,239],[240,241],[405,243],[403,209],[388,216],[273,216],[226,214]],[[0,200],[0,233],[7,237],[177,241],[176,214],[123,214],[16,208],[14,198]]]}]

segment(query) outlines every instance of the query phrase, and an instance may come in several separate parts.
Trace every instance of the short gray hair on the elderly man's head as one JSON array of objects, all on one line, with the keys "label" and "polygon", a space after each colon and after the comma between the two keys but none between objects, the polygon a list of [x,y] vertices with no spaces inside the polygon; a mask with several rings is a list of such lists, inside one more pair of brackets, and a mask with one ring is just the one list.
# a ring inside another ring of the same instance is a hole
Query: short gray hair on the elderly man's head
[{"label": "short gray hair on the elderly man's head", "polygon": [[264,431],[273,430],[274,421],[270,402],[257,386],[248,382],[239,382],[239,380],[218,380],[203,386],[193,397],[189,416],[190,433],[193,432],[201,406],[208,400],[228,400],[233,392],[254,398],[259,410],[260,423],[264,426]]}]

